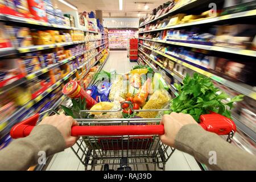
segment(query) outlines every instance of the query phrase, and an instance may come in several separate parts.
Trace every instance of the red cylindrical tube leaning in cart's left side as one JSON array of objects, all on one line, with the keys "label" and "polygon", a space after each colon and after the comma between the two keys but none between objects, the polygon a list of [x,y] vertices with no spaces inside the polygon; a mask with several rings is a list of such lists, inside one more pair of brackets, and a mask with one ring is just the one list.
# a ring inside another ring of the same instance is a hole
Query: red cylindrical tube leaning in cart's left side
[{"label": "red cylindrical tube leaning in cart's left side", "polygon": [[88,109],[97,104],[97,101],[94,100],[88,93],[86,93],[85,90],[81,88],[81,86],[76,81],[69,81],[64,86],[62,92],[70,98],[85,98],[87,103],[86,106]]}]

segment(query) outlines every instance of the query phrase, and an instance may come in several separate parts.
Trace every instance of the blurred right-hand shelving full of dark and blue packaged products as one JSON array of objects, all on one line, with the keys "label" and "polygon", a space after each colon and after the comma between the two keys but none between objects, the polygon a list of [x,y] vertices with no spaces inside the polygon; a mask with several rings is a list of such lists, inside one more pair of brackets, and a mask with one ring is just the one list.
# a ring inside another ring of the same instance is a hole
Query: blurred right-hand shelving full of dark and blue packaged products
[{"label": "blurred right-hand shelving full of dark and blue packaged products", "polygon": [[243,94],[232,109],[238,129],[233,144],[255,154],[256,2],[216,3],[216,14],[203,9],[209,1],[167,2],[155,9],[139,26],[138,62],[164,71],[172,82],[183,83],[187,73],[197,72],[230,96]]}]

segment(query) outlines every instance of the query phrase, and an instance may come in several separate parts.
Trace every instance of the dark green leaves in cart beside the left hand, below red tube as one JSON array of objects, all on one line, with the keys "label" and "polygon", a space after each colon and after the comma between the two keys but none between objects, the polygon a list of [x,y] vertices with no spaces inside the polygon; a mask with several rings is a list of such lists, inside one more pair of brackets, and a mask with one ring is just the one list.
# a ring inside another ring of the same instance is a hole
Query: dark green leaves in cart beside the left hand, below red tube
[{"label": "dark green leaves in cart beside the left hand, below red tube", "polygon": [[72,99],[72,107],[66,107],[63,105],[60,105],[61,108],[65,111],[66,115],[70,115],[72,118],[83,118],[83,119],[87,119],[87,118],[93,118],[93,115],[91,115],[90,113],[87,112],[82,112],[80,114],[80,110],[86,110],[86,100],[85,98],[81,99],[81,98],[76,98],[76,99]]}]

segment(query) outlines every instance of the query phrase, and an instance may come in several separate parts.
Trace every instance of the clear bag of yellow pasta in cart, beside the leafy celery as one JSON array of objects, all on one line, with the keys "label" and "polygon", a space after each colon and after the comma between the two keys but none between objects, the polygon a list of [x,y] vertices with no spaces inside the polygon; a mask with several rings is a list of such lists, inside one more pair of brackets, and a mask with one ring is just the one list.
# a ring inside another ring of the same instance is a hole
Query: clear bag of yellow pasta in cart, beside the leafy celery
[{"label": "clear bag of yellow pasta in cart, beside the leafy celery", "polygon": [[[167,90],[156,90],[142,109],[163,109],[163,107],[168,104],[170,99],[171,96]],[[138,116],[141,118],[155,118],[156,115],[158,115],[158,111],[140,112],[138,114]]]}]

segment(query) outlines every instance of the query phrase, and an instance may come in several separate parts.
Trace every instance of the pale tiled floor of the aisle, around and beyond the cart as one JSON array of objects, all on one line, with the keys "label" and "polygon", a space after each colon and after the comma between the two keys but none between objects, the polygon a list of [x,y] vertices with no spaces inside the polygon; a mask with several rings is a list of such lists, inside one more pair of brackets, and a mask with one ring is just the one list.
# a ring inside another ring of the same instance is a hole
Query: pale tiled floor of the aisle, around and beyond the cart
[{"label": "pale tiled floor of the aisle, around and beyond the cart", "polygon": [[[137,65],[137,63],[130,63],[129,59],[127,59],[127,51],[110,51],[109,60],[106,62],[104,66],[105,71],[112,71],[115,69],[117,73],[125,73],[129,72],[130,69]],[[138,168],[137,168],[138,167]],[[117,166],[114,167],[115,169]],[[146,166],[136,166],[133,165],[131,168],[137,170],[146,170]],[[154,170],[154,165],[149,166],[150,170]],[[100,170],[100,167],[96,167],[96,170]],[[59,170],[72,170],[72,171],[83,171],[84,166],[71,150],[71,148],[67,148],[63,152],[59,152],[55,154],[49,162],[47,171],[59,171]],[[200,167],[196,163],[196,160],[188,154],[185,154],[181,151],[175,151],[171,158],[168,160],[166,164],[167,171],[173,170],[200,170]]]}]

